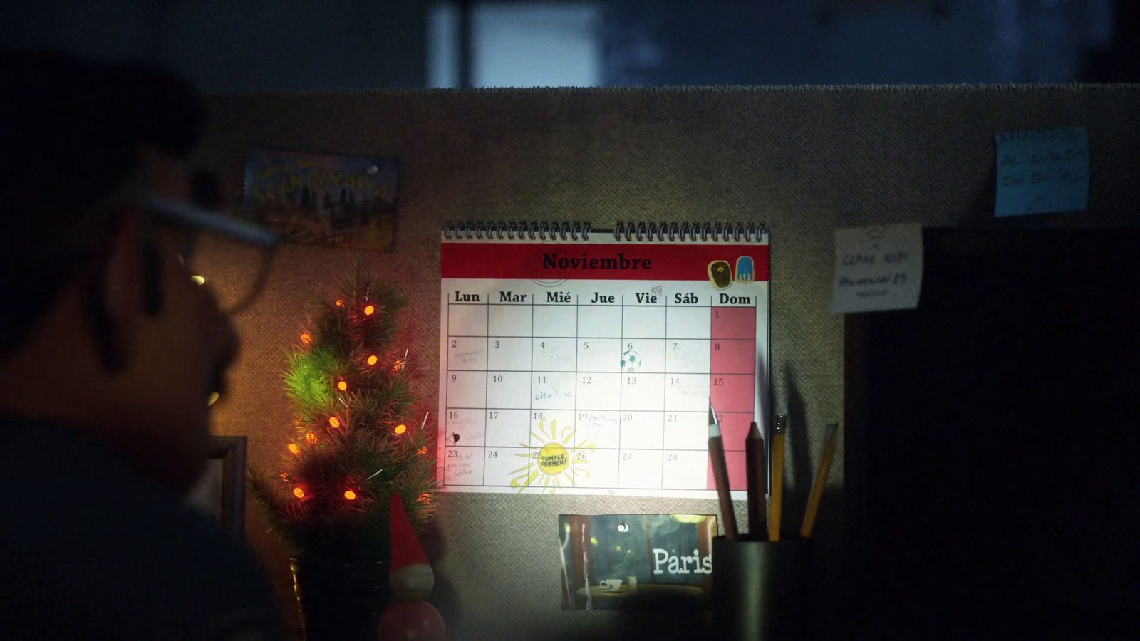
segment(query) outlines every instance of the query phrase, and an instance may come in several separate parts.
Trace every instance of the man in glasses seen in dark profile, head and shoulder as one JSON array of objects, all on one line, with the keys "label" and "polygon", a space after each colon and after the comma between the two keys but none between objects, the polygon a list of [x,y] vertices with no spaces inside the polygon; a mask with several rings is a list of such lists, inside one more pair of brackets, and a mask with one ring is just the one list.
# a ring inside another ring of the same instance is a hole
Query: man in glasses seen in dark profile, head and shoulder
[{"label": "man in glasses seen in dark profile, head and shoulder", "polygon": [[181,500],[237,354],[192,241],[272,237],[193,206],[180,80],[8,49],[0,87],[0,638],[278,638],[252,554]]}]

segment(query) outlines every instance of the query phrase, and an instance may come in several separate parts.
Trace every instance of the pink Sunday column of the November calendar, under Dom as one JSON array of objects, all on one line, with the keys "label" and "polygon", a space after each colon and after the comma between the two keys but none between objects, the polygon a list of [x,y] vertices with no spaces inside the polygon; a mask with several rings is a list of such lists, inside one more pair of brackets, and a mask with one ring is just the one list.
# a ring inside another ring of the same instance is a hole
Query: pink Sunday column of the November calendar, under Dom
[{"label": "pink Sunday column of the November calendar, under Dom", "polygon": [[[756,307],[714,306],[711,342],[709,392],[720,420],[728,486],[743,490],[744,437],[756,403]],[[711,470],[708,487],[716,487]]]}]

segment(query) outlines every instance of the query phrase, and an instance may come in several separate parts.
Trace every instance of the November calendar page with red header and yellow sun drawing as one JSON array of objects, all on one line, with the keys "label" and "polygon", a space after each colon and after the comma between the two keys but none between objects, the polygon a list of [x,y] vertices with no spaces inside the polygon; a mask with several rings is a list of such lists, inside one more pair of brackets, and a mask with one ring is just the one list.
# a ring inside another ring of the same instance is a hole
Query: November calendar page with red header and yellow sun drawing
[{"label": "November calendar page with red header and yellow sun drawing", "polygon": [[765,427],[766,235],[445,237],[441,276],[441,490],[714,498],[711,398],[744,497],[744,437]]}]

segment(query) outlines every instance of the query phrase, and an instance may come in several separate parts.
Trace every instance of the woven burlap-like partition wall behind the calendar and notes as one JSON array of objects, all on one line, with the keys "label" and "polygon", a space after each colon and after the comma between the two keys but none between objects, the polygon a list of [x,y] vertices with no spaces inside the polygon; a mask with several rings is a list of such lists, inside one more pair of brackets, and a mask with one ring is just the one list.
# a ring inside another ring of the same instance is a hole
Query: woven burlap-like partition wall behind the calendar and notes
[{"label": "woven burlap-like partition wall behind the calendar and notes", "polygon": [[[1140,209],[1138,86],[400,91],[210,104],[212,129],[198,160],[219,172],[234,202],[253,147],[400,159],[396,251],[366,260],[412,295],[401,340],[431,407],[443,221],[767,222],[773,383],[775,407],[791,416],[792,518],[801,513],[817,437],[842,415],[842,325],[828,314],[833,228],[1131,225]],[[994,220],[993,133],[1070,125],[1089,128],[1090,211]],[[252,464],[284,452],[284,350],[306,301],[345,273],[352,255],[285,248],[263,298],[237,318],[244,350],[215,431],[246,435]],[[839,590],[841,454],[816,528],[819,600]],[[610,612],[560,610],[559,513],[717,511],[705,501],[508,494],[442,495],[439,504],[429,551],[435,601],[464,639],[601,636],[617,625]],[[295,626],[288,553],[252,504],[247,524]],[[840,607],[821,608],[821,620]]]}]

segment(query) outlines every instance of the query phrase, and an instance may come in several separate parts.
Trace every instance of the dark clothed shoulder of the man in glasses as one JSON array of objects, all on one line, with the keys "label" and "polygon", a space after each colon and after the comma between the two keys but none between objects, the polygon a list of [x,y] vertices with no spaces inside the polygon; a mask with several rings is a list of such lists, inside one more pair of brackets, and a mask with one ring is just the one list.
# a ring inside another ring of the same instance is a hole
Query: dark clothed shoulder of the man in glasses
[{"label": "dark clothed shoulder of the man in glasses", "polygon": [[60,447],[0,454],[0,487],[18,488],[0,492],[0,513],[11,516],[0,526],[0,575],[15,578],[0,587],[0,610],[145,635],[275,616],[252,553],[213,520],[113,459]]}]

